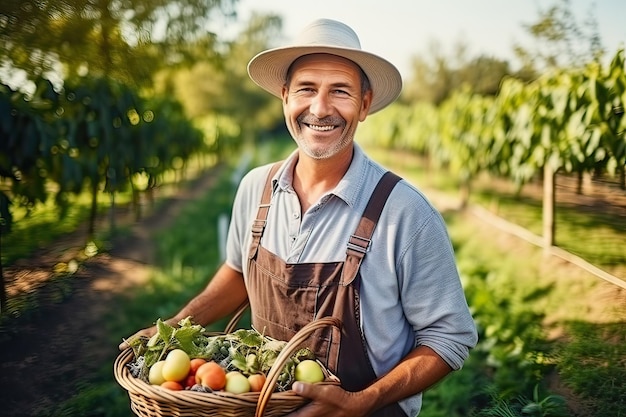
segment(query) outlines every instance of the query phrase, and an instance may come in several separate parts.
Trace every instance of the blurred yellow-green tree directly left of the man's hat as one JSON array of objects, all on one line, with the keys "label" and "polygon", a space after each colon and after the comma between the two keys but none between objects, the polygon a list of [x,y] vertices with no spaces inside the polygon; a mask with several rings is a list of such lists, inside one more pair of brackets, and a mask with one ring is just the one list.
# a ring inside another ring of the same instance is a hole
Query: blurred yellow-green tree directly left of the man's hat
[{"label": "blurred yellow-green tree directly left of the man's hat", "polygon": [[250,58],[269,47],[281,28],[278,16],[254,14],[219,56],[161,71],[155,92],[177,97],[186,114],[212,132],[207,140],[220,152],[249,143],[260,132],[282,124],[280,101],[247,74]]}]

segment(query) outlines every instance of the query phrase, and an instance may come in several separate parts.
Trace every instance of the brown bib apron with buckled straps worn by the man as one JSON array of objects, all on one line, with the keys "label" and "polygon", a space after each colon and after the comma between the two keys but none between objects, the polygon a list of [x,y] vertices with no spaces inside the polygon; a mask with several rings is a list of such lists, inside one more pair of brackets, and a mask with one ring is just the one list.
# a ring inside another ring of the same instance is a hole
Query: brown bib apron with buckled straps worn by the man
[{"label": "brown bib apron with buckled straps worn by the man", "polygon": [[[359,324],[359,267],[387,197],[400,178],[391,172],[381,178],[350,237],[345,262],[289,264],[260,245],[270,209],[271,179],[279,166],[280,163],[275,164],[268,175],[252,227],[248,257],[252,325],[275,339],[290,340],[316,318],[340,319],[341,329],[317,330],[307,347],[339,377],[344,389],[359,391],[376,379]],[[406,414],[394,403],[372,416],[406,417]]]}]

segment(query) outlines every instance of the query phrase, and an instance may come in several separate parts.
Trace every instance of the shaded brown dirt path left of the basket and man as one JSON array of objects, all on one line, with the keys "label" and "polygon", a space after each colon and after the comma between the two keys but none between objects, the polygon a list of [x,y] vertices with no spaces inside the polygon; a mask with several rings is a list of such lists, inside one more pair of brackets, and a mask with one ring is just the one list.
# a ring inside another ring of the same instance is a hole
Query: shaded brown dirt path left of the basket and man
[{"label": "shaded brown dirt path left of the basket and man", "polygon": [[[5,271],[9,291],[37,294],[39,308],[23,320],[16,319],[19,331],[10,340],[0,340],[3,416],[40,415],[71,398],[77,378],[111,362],[117,346],[102,332],[99,319],[115,309],[115,294],[147,278],[153,233],[166,227],[187,201],[204,193],[214,177],[208,173],[167,198],[132,224],[130,235],[115,240],[113,250],[85,261],[62,285],[41,283],[50,279],[61,258],[79,250],[85,236],[82,230]],[[126,217],[122,215],[120,221],[128,221]]]}]

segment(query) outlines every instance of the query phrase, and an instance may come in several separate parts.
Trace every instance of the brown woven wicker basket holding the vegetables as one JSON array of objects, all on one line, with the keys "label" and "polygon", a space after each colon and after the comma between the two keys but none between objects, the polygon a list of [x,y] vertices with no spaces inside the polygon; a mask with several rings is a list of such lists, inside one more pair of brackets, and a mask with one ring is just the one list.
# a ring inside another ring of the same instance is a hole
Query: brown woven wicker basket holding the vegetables
[{"label": "brown woven wicker basket holding the vegetables", "polygon": [[[128,391],[130,408],[138,416],[143,417],[278,417],[302,407],[308,402],[293,391],[273,392],[283,366],[296,349],[302,346],[310,334],[322,327],[340,326],[340,321],[325,317],[304,326],[285,345],[274,365],[267,374],[261,392],[231,394],[225,391],[214,393],[190,390],[172,391],[159,386],[150,385],[139,378],[133,377],[128,368],[134,354],[131,348],[124,350],[115,360],[114,374],[117,382]],[[229,333],[231,325],[224,333]],[[322,383],[338,384],[339,380],[325,367],[326,381]]]}]

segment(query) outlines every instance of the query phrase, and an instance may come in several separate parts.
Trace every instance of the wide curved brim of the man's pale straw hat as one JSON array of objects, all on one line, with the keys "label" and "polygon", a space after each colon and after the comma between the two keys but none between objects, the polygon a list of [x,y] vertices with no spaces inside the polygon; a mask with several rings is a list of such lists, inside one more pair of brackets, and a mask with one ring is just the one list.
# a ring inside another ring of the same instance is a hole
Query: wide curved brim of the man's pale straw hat
[{"label": "wide curved brim of the man's pale straw hat", "polygon": [[388,106],[402,91],[400,72],[384,58],[360,49],[323,45],[287,46],[261,52],[250,60],[248,75],[261,88],[280,98],[287,70],[293,61],[304,55],[318,53],[337,55],[361,67],[372,87],[369,114]]}]

